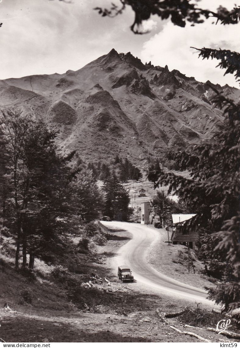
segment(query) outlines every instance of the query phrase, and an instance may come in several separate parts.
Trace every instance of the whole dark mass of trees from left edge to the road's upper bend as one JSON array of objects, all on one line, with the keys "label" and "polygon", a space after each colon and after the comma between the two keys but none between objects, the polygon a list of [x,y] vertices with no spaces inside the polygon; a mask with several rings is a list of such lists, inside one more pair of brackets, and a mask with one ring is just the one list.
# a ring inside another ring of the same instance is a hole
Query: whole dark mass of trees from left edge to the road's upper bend
[{"label": "whole dark mass of trees from left edge to the road's upper bend", "polygon": [[35,257],[53,262],[76,231],[84,231],[86,241],[98,232],[93,222],[102,215],[130,218],[129,194],[106,164],[97,172],[75,151],[63,156],[56,132],[30,114],[2,111],[0,122],[0,228],[1,236],[14,238],[17,271],[33,270]]}]

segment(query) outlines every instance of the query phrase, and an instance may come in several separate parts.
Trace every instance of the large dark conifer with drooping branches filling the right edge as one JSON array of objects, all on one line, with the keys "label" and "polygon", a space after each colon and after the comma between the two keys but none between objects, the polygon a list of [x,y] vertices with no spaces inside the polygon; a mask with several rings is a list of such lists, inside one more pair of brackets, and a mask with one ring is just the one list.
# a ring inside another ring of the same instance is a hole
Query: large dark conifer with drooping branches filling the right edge
[{"label": "large dark conifer with drooping branches filling the right edge", "polygon": [[209,298],[223,304],[227,311],[240,305],[240,103],[234,104],[220,93],[212,102],[223,108],[226,116],[225,124],[219,126],[214,139],[195,145],[191,153],[173,154],[179,167],[190,171],[191,179],[173,173],[159,173],[156,186],[169,185],[169,193],[177,194],[189,207],[194,207],[194,212],[198,213],[195,223],[211,235],[205,238],[208,243],[203,243],[202,248],[210,248],[212,253],[209,255],[218,253],[218,258],[212,257],[219,267],[220,263],[227,262],[228,269],[232,270],[227,282],[223,279],[222,284],[209,289]]}]

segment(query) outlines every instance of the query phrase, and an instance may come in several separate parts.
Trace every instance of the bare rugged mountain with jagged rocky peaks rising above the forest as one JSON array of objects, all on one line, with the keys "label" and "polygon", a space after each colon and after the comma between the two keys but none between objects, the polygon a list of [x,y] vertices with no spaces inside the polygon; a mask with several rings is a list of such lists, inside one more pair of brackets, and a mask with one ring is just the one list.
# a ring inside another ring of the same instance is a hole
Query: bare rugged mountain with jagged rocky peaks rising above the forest
[{"label": "bare rugged mountain with jagged rocky peaks rising above the forest", "polygon": [[222,111],[211,86],[238,100],[240,90],[198,82],[178,70],[143,64],[112,49],[77,71],[0,81],[0,108],[20,108],[49,127],[57,141],[88,161],[118,154],[146,166],[149,155],[211,138]]}]

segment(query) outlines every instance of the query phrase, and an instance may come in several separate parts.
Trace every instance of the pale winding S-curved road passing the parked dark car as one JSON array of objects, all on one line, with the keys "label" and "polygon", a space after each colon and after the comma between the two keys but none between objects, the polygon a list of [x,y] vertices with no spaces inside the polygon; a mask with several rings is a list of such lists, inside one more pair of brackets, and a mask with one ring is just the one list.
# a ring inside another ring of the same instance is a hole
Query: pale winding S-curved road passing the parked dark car
[{"label": "pale winding S-curved road passing the parked dark car", "polygon": [[206,299],[206,291],[167,277],[147,263],[147,254],[151,245],[159,237],[159,230],[129,222],[101,221],[101,223],[107,228],[124,229],[132,234],[132,239],[123,245],[117,251],[117,256],[112,259],[112,266],[116,273],[119,265],[126,264],[131,268],[134,279],[152,290],[215,306],[213,301]]}]

